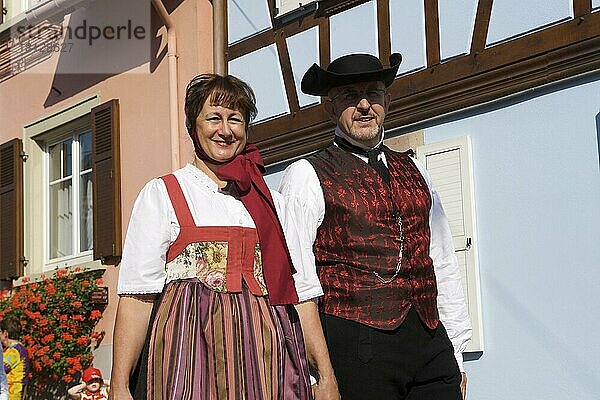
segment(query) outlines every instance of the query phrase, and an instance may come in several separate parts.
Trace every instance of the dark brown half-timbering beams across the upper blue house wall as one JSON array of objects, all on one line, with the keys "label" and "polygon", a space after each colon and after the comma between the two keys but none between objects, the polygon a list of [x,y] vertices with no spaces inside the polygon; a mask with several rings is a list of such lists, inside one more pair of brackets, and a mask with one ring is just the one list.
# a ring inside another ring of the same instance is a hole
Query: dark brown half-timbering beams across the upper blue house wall
[{"label": "dark brown half-timbering beams across the upper blue house wall", "polygon": [[[227,46],[229,61],[276,44],[290,113],[252,126],[253,141],[266,164],[318,150],[333,138],[334,125],[317,105],[300,109],[286,38],[319,27],[319,60],[330,62],[329,16],[366,2],[344,0],[326,12],[282,24],[274,17],[275,0],[268,1],[273,29]],[[391,52],[389,0],[377,2],[379,56]],[[406,127],[466,107],[483,104],[540,85],[600,69],[600,13],[589,0],[573,0],[573,18],[494,46],[486,46],[492,0],[479,0],[469,54],[441,60],[438,1],[423,0],[427,65],[401,75],[389,88],[391,103],[385,128]],[[333,1],[319,1],[319,6]],[[339,5],[340,8],[337,8]]]}]

